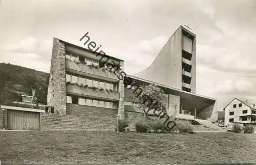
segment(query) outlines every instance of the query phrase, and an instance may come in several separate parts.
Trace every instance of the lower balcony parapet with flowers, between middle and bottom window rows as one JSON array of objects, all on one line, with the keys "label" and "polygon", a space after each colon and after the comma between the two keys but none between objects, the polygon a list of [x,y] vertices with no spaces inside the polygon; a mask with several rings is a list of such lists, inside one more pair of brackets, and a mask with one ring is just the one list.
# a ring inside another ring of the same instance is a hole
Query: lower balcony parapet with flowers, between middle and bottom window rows
[{"label": "lower balcony parapet with flowers, between middle and bottom window rows", "polygon": [[105,90],[91,89],[89,87],[79,87],[77,85],[67,85],[66,91],[68,94],[76,94],[84,97],[96,98],[96,99],[104,99],[110,101],[119,100],[119,93],[108,92]]}]

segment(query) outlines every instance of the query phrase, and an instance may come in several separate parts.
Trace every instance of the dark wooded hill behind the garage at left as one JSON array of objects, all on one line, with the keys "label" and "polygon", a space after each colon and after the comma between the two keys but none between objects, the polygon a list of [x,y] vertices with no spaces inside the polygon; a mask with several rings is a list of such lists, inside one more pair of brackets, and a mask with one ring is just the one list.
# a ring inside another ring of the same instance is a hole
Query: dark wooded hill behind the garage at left
[{"label": "dark wooded hill behind the garage at left", "polygon": [[17,65],[0,63],[0,105],[22,101],[21,95],[31,95],[36,89],[38,103],[47,103],[49,73]]}]

